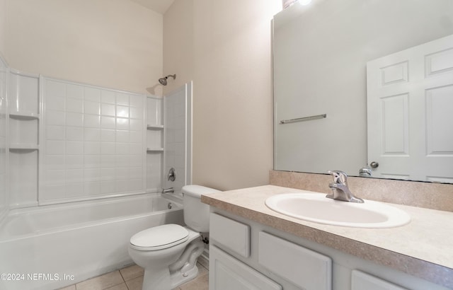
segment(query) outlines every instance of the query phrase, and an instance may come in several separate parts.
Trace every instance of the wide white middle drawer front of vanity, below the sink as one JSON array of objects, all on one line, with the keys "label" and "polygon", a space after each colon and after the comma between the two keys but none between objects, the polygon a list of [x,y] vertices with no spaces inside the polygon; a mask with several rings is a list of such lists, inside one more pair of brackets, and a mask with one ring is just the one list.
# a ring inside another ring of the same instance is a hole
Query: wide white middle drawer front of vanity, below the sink
[{"label": "wide white middle drawer front of vanity, below the sink", "polygon": [[307,290],[332,289],[332,260],[269,233],[259,233],[258,262]]}]

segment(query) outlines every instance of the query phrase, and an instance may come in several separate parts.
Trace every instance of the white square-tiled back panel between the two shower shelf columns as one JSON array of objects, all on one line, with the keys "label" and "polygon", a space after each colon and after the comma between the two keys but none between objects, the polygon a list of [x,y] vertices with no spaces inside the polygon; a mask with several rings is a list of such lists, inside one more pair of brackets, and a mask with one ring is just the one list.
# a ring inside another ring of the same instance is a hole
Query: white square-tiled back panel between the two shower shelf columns
[{"label": "white square-tiled back panel between the two shower shelf columns", "polygon": [[44,81],[42,203],[144,192],[145,96]]}]

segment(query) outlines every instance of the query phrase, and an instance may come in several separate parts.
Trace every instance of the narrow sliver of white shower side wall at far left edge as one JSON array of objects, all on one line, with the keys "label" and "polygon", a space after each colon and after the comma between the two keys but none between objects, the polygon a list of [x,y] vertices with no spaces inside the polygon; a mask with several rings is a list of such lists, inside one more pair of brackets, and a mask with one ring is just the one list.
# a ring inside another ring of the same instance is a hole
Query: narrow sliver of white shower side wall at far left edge
[{"label": "narrow sliver of white shower side wall at far left edge", "polygon": [[0,216],[8,209],[6,200],[6,84],[8,66],[0,57]]}]

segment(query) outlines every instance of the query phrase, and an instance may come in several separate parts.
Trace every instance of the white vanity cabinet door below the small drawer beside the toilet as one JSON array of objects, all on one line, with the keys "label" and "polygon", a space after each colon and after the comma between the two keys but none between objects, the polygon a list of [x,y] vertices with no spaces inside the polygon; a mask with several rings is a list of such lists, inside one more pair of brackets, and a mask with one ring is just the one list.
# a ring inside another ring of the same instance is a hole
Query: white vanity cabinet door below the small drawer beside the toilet
[{"label": "white vanity cabinet door below the small drawer beside the toilet", "polygon": [[281,290],[282,286],[236,260],[214,245],[210,246],[210,290]]}]

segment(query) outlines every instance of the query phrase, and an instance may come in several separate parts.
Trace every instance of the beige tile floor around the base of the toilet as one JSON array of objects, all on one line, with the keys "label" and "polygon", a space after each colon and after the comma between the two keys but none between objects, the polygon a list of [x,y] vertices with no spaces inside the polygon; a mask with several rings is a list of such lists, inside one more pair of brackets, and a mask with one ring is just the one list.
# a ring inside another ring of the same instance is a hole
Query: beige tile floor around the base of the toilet
[{"label": "beige tile floor around the base of the toilet", "polygon": [[[198,277],[173,290],[208,290],[208,262],[198,259]],[[142,290],[143,269],[137,265],[125,267],[60,290]]]}]

